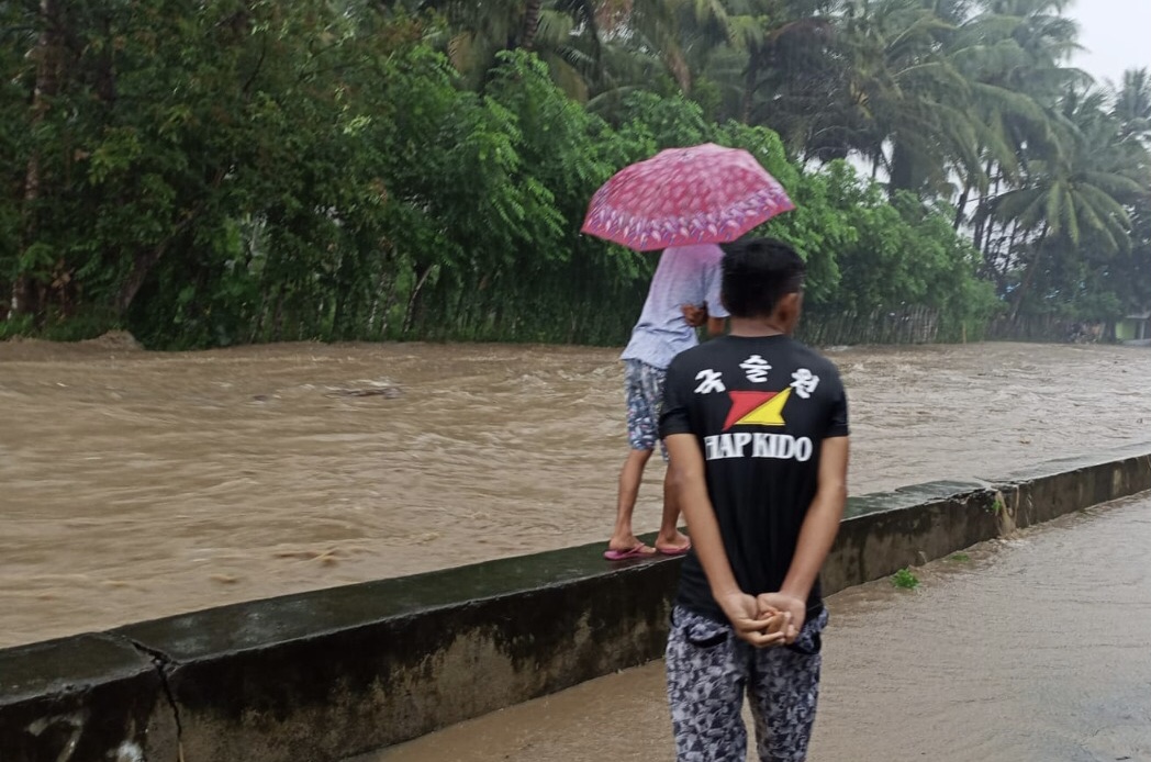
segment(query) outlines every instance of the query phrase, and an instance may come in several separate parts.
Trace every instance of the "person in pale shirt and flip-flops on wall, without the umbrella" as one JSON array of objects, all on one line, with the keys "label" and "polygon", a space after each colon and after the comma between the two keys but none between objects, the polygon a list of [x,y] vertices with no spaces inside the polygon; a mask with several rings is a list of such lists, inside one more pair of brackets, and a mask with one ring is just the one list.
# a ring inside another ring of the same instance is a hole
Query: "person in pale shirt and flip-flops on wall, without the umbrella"
[{"label": "person in pale shirt and flip-flops on wall, without the umbrella", "polygon": [[706,323],[712,336],[724,330],[727,312],[719,304],[721,259],[723,250],[712,244],[664,250],[651,279],[643,312],[622,355],[626,366],[627,441],[632,449],[619,474],[616,527],[604,553],[610,561],[656,553],[681,555],[691,547],[691,541],[677,525],[679,508],[668,488],[666,478],[663,518],[654,548],[635,536],[632,515],[643,468],[660,439],[660,402],[668,364],[679,352],[699,344],[696,327]]}]

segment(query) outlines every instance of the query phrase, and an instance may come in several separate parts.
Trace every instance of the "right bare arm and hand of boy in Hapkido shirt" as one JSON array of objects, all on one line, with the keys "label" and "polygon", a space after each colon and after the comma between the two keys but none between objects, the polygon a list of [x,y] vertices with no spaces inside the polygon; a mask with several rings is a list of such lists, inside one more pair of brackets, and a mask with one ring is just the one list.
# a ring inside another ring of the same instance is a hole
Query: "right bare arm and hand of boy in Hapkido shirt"
[{"label": "right bare arm and hand of boy in Hapkido shirt", "polygon": [[[791,615],[787,642],[794,642],[807,615],[807,597],[831,551],[847,503],[848,440],[836,436],[823,441],[820,452],[818,488],[800,528],[795,555],[778,593],[759,596],[761,605]],[[694,535],[693,535],[694,542]]]}]

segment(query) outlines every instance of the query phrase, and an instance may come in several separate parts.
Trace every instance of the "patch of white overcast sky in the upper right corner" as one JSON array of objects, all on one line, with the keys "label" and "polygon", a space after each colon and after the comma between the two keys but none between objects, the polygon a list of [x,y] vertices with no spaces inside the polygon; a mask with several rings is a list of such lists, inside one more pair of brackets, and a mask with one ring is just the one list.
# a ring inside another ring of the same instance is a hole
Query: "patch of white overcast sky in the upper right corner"
[{"label": "patch of white overcast sky in the upper right corner", "polygon": [[1075,0],[1067,15],[1080,23],[1085,48],[1072,63],[1119,83],[1123,71],[1151,68],[1151,0]]}]

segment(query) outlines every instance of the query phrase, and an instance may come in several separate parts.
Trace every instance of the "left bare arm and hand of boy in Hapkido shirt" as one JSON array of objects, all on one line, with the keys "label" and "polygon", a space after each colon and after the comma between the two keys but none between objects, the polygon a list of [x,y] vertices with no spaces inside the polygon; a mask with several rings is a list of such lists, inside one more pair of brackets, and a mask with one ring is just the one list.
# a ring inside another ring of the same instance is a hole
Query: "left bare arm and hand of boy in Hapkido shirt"
[{"label": "left bare arm and hand of boy in Hapkido shirt", "polygon": [[739,638],[760,648],[782,642],[786,633],[775,631],[778,620],[761,616],[762,607],[754,596],[740,589],[731,571],[719,523],[708,496],[699,440],[694,434],[671,434],[664,443],[671,462],[672,489],[679,495],[680,509],[692,535],[692,548],[703,566],[712,597]]}]

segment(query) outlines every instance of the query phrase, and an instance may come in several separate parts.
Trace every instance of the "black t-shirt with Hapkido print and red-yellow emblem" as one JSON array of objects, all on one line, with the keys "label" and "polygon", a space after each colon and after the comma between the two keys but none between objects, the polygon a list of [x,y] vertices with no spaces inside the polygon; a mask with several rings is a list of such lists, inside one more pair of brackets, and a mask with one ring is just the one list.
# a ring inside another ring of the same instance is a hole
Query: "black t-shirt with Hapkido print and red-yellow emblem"
[{"label": "black t-shirt with Hapkido print and red-yellow emblem", "polygon": [[[740,589],[777,592],[818,486],[823,440],[847,436],[847,397],[828,359],[787,336],[722,336],[672,360],[660,435],[694,434]],[[719,622],[694,553],[677,603]],[[822,605],[820,584],[808,609]]]}]

